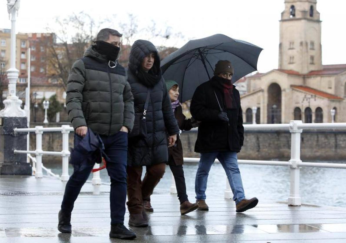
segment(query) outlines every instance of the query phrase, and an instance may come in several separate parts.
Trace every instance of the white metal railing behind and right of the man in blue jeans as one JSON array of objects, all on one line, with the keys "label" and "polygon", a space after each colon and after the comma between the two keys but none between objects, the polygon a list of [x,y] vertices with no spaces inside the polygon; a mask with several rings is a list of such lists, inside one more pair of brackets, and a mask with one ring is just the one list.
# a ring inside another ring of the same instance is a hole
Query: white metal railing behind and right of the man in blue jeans
[{"label": "white metal railing behind and right of the man in blue jeans", "polygon": [[[302,123],[301,120],[291,120],[289,124],[246,124],[244,130],[289,130],[291,133],[291,159],[289,161],[257,161],[239,159],[238,164],[249,165],[279,165],[289,166],[290,168],[290,195],[288,204],[293,206],[301,205],[299,192],[300,167],[324,167],[346,169],[346,164],[340,163],[312,163],[302,162],[300,159],[300,134],[303,129],[346,129],[346,123]],[[197,130],[197,129],[194,129]],[[199,162],[199,158],[184,158],[184,162]],[[217,162],[219,162],[216,159]],[[176,193],[175,185],[172,180],[171,193]],[[175,189],[175,190],[174,190]],[[232,198],[233,194],[226,177],[225,198]]]}]

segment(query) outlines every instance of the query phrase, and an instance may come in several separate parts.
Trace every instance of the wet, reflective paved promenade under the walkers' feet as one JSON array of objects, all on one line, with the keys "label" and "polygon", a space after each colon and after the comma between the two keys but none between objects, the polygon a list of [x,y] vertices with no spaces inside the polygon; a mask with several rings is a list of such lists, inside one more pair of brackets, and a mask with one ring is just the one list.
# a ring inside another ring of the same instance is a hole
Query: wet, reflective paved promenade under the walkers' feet
[{"label": "wet, reflective paved promenade under the walkers' feet", "polygon": [[[72,213],[72,234],[57,230],[65,183],[33,176],[0,176],[0,242],[129,242],[108,237],[109,185],[86,183]],[[193,200],[193,195],[189,195]],[[147,228],[131,227],[134,242],[346,242],[346,208],[260,201],[244,213],[231,200],[207,198],[209,211],[180,215],[176,195],[154,192]],[[128,222],[125,215],[125,225]]]}]

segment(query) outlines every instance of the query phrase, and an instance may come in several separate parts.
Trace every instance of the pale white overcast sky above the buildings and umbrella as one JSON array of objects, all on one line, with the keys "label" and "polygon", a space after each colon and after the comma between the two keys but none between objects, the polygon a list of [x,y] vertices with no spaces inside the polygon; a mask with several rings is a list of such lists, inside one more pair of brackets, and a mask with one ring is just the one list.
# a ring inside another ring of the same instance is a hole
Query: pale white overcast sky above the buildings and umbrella
[{"label": "pale white overcast sky above the buildings and umbrella", "polygon": [[[0,1],[0,28],[10,29],[7,1]],[[81,11],[94,19],[116,14],[114,26],[101,27],[117,28],[132,13],[142,25],[154,20],[159,27],[171,26],[173,32],[184,35],[185,39],[171,40],[167,45],[181,47],[188,39],[216,33],[251,42],[264,49],[258,70],[266,72],[277,68],[279,20],[283,10],[284,0],[20,0],[16,30],[45,32],[47,26],[54,28],[54,17]],[[317,10],[322,20],[322,63],[346,64],[346,1],[318,0]]]}]

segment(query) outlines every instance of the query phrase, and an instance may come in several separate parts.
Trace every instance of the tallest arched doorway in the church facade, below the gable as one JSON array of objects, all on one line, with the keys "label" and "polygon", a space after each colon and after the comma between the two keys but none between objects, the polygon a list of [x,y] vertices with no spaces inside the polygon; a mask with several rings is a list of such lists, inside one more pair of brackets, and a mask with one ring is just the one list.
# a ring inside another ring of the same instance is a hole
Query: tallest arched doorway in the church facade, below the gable
[{"label": "tallest arched doorway in the church facade, below the gable", "polygon": [[273,83],[268,87],[267,123],[281,123],[281,88]]}]

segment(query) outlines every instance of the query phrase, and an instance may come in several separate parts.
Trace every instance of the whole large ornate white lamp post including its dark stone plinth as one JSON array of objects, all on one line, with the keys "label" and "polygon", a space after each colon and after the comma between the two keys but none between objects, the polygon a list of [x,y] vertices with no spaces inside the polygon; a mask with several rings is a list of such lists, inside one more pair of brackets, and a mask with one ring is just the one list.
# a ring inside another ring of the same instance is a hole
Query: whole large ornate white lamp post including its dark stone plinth
[{"label": "whole large ornate white lamp post including its dark stone plinth", "polygon": [[5,107],[0,111],[0,152],[3,162],[0,167],[1,175],[31,175],[32,173],[32,168],[27,163],[27,155],[13,153],[14,149],[27,149],[27,134],[15,135],[13,129],[28,127],[27,113],[20,107],[22,101],[16,95],[19,77],[19,71],[16,68],[16,14],[18,14],[19,2],[20,0],[7,0],[7,12],[11,19],[11,58],[10,68],[7,70],[8,96],[3,101]]}]

